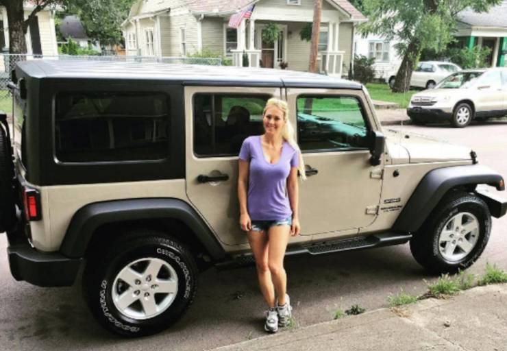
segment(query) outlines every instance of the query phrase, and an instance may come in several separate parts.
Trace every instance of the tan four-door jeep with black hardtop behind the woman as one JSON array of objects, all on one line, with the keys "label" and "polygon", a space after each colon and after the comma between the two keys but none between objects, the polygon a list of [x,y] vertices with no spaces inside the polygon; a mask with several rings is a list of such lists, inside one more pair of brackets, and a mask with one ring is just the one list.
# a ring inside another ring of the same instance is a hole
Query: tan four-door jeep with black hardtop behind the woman
[{"label": "tan four-door jeep with black hardtop behind the woman", "polygon": [[308,176],[287,254],[410,241],[423,267],[458,271],[482,254],[491,216],[507,212],[477,189],[505,184],[474,152],[382,130],[364,86],[334,77],[36,60],[18,64],[10,88],[0,232],[12,276],[69,286],[83,267],[90,311],[127,337],[175,322],[199,269],[253,261],[238,224],[238,152],[262,133],[270,97],[288,101]]}]

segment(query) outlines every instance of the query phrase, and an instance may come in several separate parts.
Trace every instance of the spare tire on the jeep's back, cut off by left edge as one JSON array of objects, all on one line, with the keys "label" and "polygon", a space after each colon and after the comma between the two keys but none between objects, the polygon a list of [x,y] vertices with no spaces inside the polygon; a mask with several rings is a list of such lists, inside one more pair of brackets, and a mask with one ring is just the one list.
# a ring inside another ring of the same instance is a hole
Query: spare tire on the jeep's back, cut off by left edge
[{"label": "spare tire on the jeep's back, cut off by left edge", "polygon": [[0,232],[11,230],[16,224],[14,165],[10,150],[10,140],[0,125]]}]

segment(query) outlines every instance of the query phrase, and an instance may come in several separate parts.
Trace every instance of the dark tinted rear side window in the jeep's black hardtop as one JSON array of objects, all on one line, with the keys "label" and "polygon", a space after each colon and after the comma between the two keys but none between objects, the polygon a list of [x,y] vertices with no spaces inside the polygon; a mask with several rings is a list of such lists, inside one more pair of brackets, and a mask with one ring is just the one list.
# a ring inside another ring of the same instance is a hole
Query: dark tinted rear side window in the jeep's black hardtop
[{"label": "dark tinted rear side window in the jeep's black hardtop", "polygon": [[55,106],[61,162],[168,157],[169,101],[162,93],[59,93]]}]

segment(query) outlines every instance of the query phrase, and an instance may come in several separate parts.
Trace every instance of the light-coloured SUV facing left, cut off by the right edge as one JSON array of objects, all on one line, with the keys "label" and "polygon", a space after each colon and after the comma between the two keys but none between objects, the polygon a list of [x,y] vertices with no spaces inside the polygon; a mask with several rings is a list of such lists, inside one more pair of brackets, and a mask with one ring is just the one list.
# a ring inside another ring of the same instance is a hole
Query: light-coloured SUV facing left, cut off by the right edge
[{"label": "light-coloured SUV facing left, cut off by the right edge", "polygon": [[464,128],[473,119],[507,115],[507,69],[469,69],[449,75],[432,90],[412,95],[407,114],[416,124],[450,121]]}]

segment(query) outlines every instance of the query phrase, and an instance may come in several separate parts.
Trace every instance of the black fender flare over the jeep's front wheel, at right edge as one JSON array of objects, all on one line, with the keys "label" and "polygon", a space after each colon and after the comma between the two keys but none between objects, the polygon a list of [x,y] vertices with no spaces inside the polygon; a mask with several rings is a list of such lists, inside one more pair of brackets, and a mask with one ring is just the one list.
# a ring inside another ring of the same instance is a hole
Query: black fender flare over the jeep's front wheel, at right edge
[{"label": "black fender flare over the jeep's front wheel, at right edge", "polygon": [[401,210],[393,230],[417,232],[445,193],[456,186],[488,184],[504,190],[503,180],[502,175],[482,165],[443,167],[429,171]]}]

